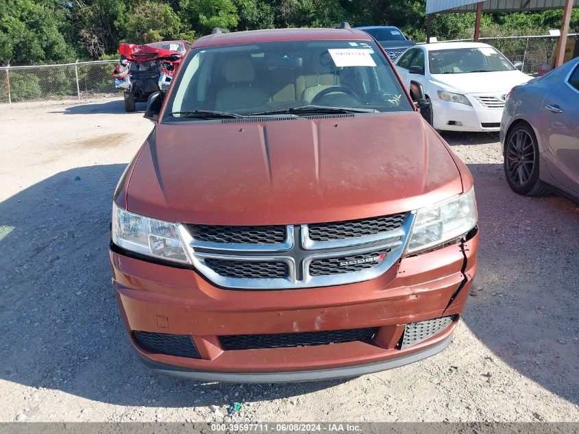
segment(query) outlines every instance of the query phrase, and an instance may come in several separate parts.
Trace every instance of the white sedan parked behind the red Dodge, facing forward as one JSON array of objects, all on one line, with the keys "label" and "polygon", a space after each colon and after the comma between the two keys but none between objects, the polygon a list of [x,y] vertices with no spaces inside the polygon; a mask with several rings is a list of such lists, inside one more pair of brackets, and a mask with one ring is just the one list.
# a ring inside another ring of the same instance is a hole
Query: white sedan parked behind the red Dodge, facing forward
[{"label": "white sedan parked behind the red Dodge, facing forward", "polygon": [[396,62],[410,91],[410,82],[422,85],[436,130],[489,132],[500,130],[510,89],[530,80],[515,65],[482,43],[417,45]]}]

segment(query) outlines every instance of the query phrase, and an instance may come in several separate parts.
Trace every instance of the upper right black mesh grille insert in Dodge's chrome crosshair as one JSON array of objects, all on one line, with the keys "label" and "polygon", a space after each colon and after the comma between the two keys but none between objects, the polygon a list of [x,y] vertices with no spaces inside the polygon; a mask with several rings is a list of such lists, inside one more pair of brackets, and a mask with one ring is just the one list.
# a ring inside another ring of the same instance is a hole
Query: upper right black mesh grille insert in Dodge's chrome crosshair
[{"label": "upper right black mesh grille insert in Dodge's chrome crosshair", "polygon": [[404,214],[393,214],[370,219],[310,224],[308,229],[313,241],[332,241],[388,232],[399,228],[403,220]]}]

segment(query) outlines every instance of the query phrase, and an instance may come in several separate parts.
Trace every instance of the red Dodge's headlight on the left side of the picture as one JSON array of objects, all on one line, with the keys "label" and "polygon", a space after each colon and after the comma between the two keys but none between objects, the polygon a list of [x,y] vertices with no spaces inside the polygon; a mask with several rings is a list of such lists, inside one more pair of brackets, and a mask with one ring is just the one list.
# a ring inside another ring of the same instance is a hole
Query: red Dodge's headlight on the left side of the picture
[{"label": "red Dodge's headlight on the left side of the picture", "polygon": [[114,203],[112,242],[131,252],[190,263],[175,224],[129,213]]}]

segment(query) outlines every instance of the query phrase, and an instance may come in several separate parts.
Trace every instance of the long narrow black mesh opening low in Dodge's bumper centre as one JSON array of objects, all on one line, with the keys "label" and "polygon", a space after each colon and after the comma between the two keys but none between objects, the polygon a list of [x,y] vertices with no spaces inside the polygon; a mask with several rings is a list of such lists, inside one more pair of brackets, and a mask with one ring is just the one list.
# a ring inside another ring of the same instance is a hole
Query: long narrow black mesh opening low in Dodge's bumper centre
[{"label": "long narrow black mesh opening low in Dodge's bumper centre", "polygon": [[256,348],[286,348],[297,346],[328,345],[354,341],[369,341],[378,328],[353,328],[323,332],[282,333],[279,335],[221,336],[225,350],[250,350]]}]

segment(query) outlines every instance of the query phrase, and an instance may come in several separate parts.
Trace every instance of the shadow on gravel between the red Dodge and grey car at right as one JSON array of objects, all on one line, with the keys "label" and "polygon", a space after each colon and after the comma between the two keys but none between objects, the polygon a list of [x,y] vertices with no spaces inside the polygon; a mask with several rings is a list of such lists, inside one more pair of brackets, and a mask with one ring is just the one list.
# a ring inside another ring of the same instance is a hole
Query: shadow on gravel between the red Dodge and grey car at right
[{"label": "shadow on gravel between the red Dodge and grey car at right", "polygon": [[[522,197],[502,165],[468,165],[480,226],[478,274],[463,320],[498,359],[579,404],[579,206],[561,197]],[[483,356],[481,356],[482,358]]]}]

